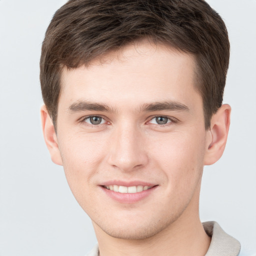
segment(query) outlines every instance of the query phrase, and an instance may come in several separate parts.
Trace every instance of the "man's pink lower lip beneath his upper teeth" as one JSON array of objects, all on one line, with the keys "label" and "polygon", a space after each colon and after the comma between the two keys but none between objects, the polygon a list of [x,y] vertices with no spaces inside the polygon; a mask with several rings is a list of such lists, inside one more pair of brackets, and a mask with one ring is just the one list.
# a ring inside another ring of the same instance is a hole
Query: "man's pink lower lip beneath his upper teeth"
[{"label": "man's pink lower lip beneath his upper teeth", "polygon": [[141,192],[136,192],[136,193],[120,193],[120,192],[115,192],[110,189],[107,189],[103,186],[100,186],[101,189],[112,199],[121,202],[121,203],[134,203],[137,201],[140,201],[144,199],[145,197],[149,196],[157,187],[157,185],[147,189],[143,190]]}]

